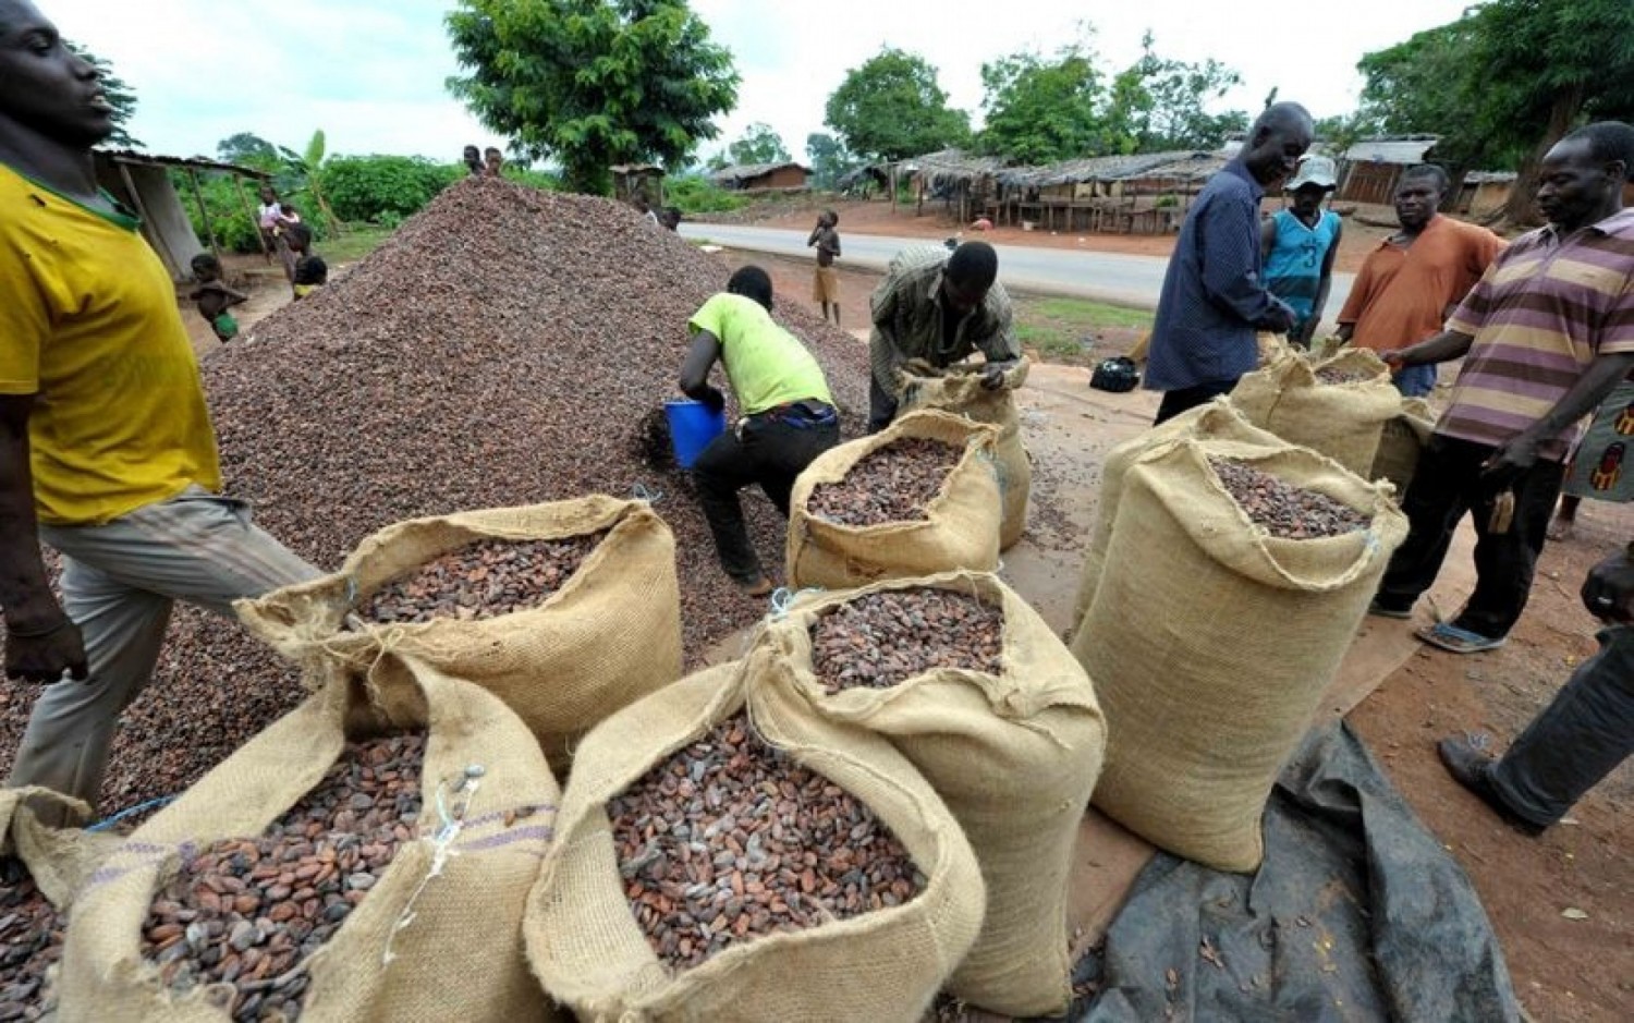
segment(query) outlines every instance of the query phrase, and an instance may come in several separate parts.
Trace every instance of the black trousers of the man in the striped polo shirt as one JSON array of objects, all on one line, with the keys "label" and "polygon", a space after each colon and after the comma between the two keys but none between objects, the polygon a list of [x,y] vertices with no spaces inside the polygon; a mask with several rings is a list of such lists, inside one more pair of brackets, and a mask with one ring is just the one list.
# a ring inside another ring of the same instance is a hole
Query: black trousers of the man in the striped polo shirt
[{"label": "black trousers of the man in the striped polo shirt", "polygon": [[1395,551],[1379,583],[1377,601],[1386,608],[1413,606],[1441,572],[1453,546],[1453,533],[1466,513],[1476,518],[1476,592],[1453,621],[1459,629],[1502,639],[1510,634],[1526,598],[1554,502],[1560,495],[1565,467],[1538,461],[1515,480],[1515,518],[1508,533],[1492,533],[1487,523],[1497,492],[1482,482],[1480,467],[1493,448],[1440,433],[1430,438],[1413,482],[1407,487],[1402,512],[1410,531]]}]

